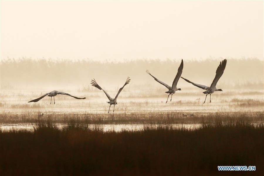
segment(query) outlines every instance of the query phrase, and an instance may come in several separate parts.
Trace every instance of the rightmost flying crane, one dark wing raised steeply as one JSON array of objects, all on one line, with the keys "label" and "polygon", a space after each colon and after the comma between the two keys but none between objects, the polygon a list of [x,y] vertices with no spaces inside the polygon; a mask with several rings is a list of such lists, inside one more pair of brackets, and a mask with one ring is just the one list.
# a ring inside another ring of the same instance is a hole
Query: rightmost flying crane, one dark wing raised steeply
[{"label": "rightmost flying crane, one dark wing raised steeply", "polygon": [[[220,77],[223,75],[225,68],[226,68],[226,59],[221,61],[219,66],[217,67],[214,80],[213,80],[213,82],[212,82],[210,87],[209,86],[204,86],[202,84],[193,83],[193,82],[191,82],[191,81],[189,81],[189,80],[187,80],[187,79],[185,79],[183,77],[181,77],[181,78],[184,79],[185,81],[187,81],[188,83],[191,83],[192,85],[194,85],[196,87],[199,87],[201,89],[206,90],[206,91],[203,92],[204,94],[206,94],[205,100],[206,100],[207,95],[210,94],[210,103],[211,103],[211,94],[214,93],[215,91],[223,91],[222,89],[217,89],[216,88],[216,83],[218,82]],[[205,100],[204,100],[204,103],[205,103]]]}]

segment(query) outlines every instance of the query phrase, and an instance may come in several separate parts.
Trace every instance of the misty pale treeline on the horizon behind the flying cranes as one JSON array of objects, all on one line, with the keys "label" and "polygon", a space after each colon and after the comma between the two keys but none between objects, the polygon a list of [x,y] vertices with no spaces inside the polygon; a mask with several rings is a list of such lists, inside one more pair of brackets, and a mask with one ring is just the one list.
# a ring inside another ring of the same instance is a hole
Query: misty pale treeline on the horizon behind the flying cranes
[{"label": "misty pale treeline on the horizon behind the flying cranes", "polygon": [[[223,59],[206,59],[203,61],[185,61],[182,76],[200,84],[210,86],[219,62]],[[131,85],[154,85],[153,78],[145,73],[148,69],[153,76],[171,84],[180,59],[166,61],[135,60],[126,62],[99,62],[88,59],[47,60],[47,59],[7,59],[1,60],[1,88],[51,87],[67,85],[73,87],[88,86],[92,78],[107,87],[117,87],[131,77]],[[219,85],[258,85],[263,87],[263,61],[258,59],[227,59],[225,72]],[[183,80],[179,85],[187,86]],[[162,85],[161,85],[162,86]]]}]

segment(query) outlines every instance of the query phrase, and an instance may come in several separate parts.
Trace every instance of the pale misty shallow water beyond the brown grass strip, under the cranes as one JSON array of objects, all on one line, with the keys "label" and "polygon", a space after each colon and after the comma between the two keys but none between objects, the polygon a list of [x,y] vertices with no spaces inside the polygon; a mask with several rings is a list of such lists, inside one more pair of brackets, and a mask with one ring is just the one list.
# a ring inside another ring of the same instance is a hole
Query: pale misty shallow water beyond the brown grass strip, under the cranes
[{"label": "pale misty shallow water beyond the brown grass strip, under the cranes", "polygon": [[[80,94],[80,93],[73,93]],[[40,94],[19,94],[18,92],[5,92],[1,90],[1,113],[14,112],[23,113],[25,111],[35,111],[40,113],[57,112],[57,113],[71,113],[71,112],[89,112],[89,113],[107,113],[109,104],[106,103],[108,99],[101,93],[98,96],[93,93],[87,94],[87,99],[76,100],[74,98],[57,95],[55,96],[55,104],[50,104],[50,97],[44,97],[36,103],[27,103],[28,100],[40,96]],[[162,94],[162,93],[161,93]],[[133,113],[133,112],[150,112],[150,111],[239,111],[263,110],[263,95],[233,95],[232,93],[215,93],[212,94],[212,102],[209,103],[207,97],[206,103],[204,102],[204,94],[197,94],[186,96],[180,93],[172,97],[172,101],[167,100],[167,94],[164,97],[146,97],[146,98],[129,98],[127,93],[122,94],[118,99],[118,104],[115,106],[115,113]],[[162,94],[163,95],[163,94]],[[127,97],[126,97],[127,96]],[[113,113],[114,106],[110,108],[110,113]]]}]

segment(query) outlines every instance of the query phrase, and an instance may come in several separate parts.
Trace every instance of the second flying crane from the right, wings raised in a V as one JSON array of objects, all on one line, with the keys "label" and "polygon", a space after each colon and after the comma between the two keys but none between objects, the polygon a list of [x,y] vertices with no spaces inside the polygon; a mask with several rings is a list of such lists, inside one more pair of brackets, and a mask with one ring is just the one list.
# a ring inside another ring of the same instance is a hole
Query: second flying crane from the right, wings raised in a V
[{"label": "second flying crane from the right, wings raised in a V", "polygon": [[178,83],[178,81],[179,81],[179,79],[180,79],[180,76],[182,75],[182,70],[183,70],[183,60],[182,60],[180,66],[179,66],[179,68],[178,68],[177,75],[175,76],[175,78],[174,78],[174,80],[173,80],[173,82],[172,82],[172,86],[169,86],[169,85],[167,85],[166,83],[163,83],[162,81],[160,81],[160,80],[158,80],[157,78],[155,78],[154,76],[152,76],[148,70],[146,71],[146,72],[147,72],[150,76],[152,76],[152,77],[153,77],[158,83],[162,84],[162,85],[165,86],[167,89],[169,89],[167,92],[165,92],[165,93],[169,93],[166,103],[168,102],[168,99],[169,99],[169,96],[170,96],[170,95],[171,95],[171,98],[170,98],[170,101],[171,101],[171,99],[172,99],[172,95],[175,94],[175,92],[176,92],[177,90],[182,90],[182,89],[180,89],[180,88],[177,88],[177,83]]}]

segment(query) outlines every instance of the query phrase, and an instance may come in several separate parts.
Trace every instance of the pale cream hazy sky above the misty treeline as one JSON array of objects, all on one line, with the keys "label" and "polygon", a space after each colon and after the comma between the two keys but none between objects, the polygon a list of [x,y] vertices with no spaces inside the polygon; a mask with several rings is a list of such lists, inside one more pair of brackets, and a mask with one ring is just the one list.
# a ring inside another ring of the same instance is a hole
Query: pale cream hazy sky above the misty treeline
[{"label": "pale cream hazy sky above the misty treeline", "polygon": [[263,1],[1,1],[1,59],[257,57]]}]

